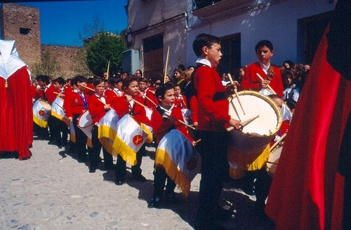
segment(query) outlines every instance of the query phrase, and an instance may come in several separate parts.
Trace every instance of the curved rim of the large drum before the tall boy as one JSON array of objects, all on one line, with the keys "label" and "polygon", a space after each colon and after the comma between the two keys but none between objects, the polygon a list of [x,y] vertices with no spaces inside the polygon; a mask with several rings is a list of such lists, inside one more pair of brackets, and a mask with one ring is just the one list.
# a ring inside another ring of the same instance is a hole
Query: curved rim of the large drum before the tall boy
[{"label": "curved rim of the large drum before the tall boy", "polygon": [[[268,102],[268,104],[270,104],[270,106],[272,106],[272,108],[274,109],[274,112],[276,114],[278,114],[277,116],[277,126],[276,128],[273,130],[272,134],[275,134],[279,131],[279,128],[280,126],[282,126],[282,120],[283,120],[283,116],[282,116],[282,112],[280,111],[277,103],[274,102],[274,100],[272,100],[272,98],[266,96],[266,95],[263,95],[262,93],[258,93],[257,91],[253,91],[253,90],[243,90],[243,91],[240,91],[238,92],[238,96],[241,96],[241,95],[253,95],[253,96],[256,96],[256,97],[260,97],[261,99],[265,100],[266,102]],[[234,98],[236,98],[237,95],[233,94],[231,95],[230,97],[228,97],[228,100],[229,102],[231,102],[232,100],[234,100]],[[243,133],[244,135],[248,136],[248,137],[257,137],[255,135],[250,135],[249,133],[244,133],[244,132],[241,132]],[[263,137],[270,137],[271,135],[262,135]]]}]

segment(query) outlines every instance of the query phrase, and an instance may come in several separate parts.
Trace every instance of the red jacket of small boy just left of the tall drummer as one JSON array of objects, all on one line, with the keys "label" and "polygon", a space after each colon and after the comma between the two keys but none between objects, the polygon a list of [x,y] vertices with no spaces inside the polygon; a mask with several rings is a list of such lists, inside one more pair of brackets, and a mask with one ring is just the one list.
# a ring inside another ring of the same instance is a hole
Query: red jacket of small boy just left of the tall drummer
[{"label": "red jacket of small boy just left of the tall drummer", "polygon": [[[161,110],[161,113],[163,114],[162,110]],[[156,137],[157,144],[159,144],[159,141],[162,139],[162,137],[164,137],[164,135],[166,135],[170,130],[174,128],[182,132],[183,135],[190,140],[190,142],[193,141],[192,137],[190,137],[189,133],[187,133],[187,128],[185,125],[183,125],[179,121],[175,121],[174,123],[171,123],[169,119],[166,119],[166,121],[164,121],[164,118],[162,117],[161,113],[160,111],[155,110],[151,116],[151,121],[152,121],[151,126],[152,126],[152,129],[154,130],[154,136]],[[180,107],[173,107],[171,111],[171,116],[174,116],[176,117],[176,119],[184,122],[182,108]]]}]

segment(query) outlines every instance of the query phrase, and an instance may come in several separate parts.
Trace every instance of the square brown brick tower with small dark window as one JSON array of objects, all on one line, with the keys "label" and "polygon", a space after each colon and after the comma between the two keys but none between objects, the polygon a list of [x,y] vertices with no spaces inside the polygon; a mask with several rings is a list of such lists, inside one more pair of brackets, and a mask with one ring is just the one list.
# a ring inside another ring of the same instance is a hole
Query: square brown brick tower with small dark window
[{"label": "square brown brick tower with small dark window", "polygon": [[2,4],[1,39],[15,40],[20,58],[31,69],[41,59],[39,8],[18,4]]}]

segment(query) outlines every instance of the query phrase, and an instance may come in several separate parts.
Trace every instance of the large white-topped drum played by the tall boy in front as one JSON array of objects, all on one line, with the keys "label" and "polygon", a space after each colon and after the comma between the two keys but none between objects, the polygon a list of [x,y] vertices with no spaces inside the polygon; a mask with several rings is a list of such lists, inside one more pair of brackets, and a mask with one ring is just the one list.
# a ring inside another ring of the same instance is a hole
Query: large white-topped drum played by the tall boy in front
[{"label": "large white-topped drum played by the tall boy in front", "polygon": [[275,102],[256,91],[244,90],[238,93],[243,109],[236,95],[229,98],[229,114],[232,119],[246,121],[255,116],[242,130],[230,131],[230,148],[242,154],[256,154],[263,151],[282,125],[282,112]]}]

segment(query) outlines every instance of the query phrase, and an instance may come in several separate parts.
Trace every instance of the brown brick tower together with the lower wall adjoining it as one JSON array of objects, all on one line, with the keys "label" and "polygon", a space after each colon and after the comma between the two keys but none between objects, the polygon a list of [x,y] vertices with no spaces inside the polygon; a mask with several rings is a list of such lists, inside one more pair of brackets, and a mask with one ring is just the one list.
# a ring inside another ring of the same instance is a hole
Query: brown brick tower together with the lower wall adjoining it
[{"label": "brown brick tower together with the lower wall adjoining it", "polygon": [[48,50],[57,58],[65,78],[76,75],[73,72],[72,63],[77,57],[79,48],[41,45],[39,8],[19,4],[2,4],[0,27],[1,39],[15,40],[18,55],[28,65],[29,70],[35,63],[40,62],[41,55]]}]

